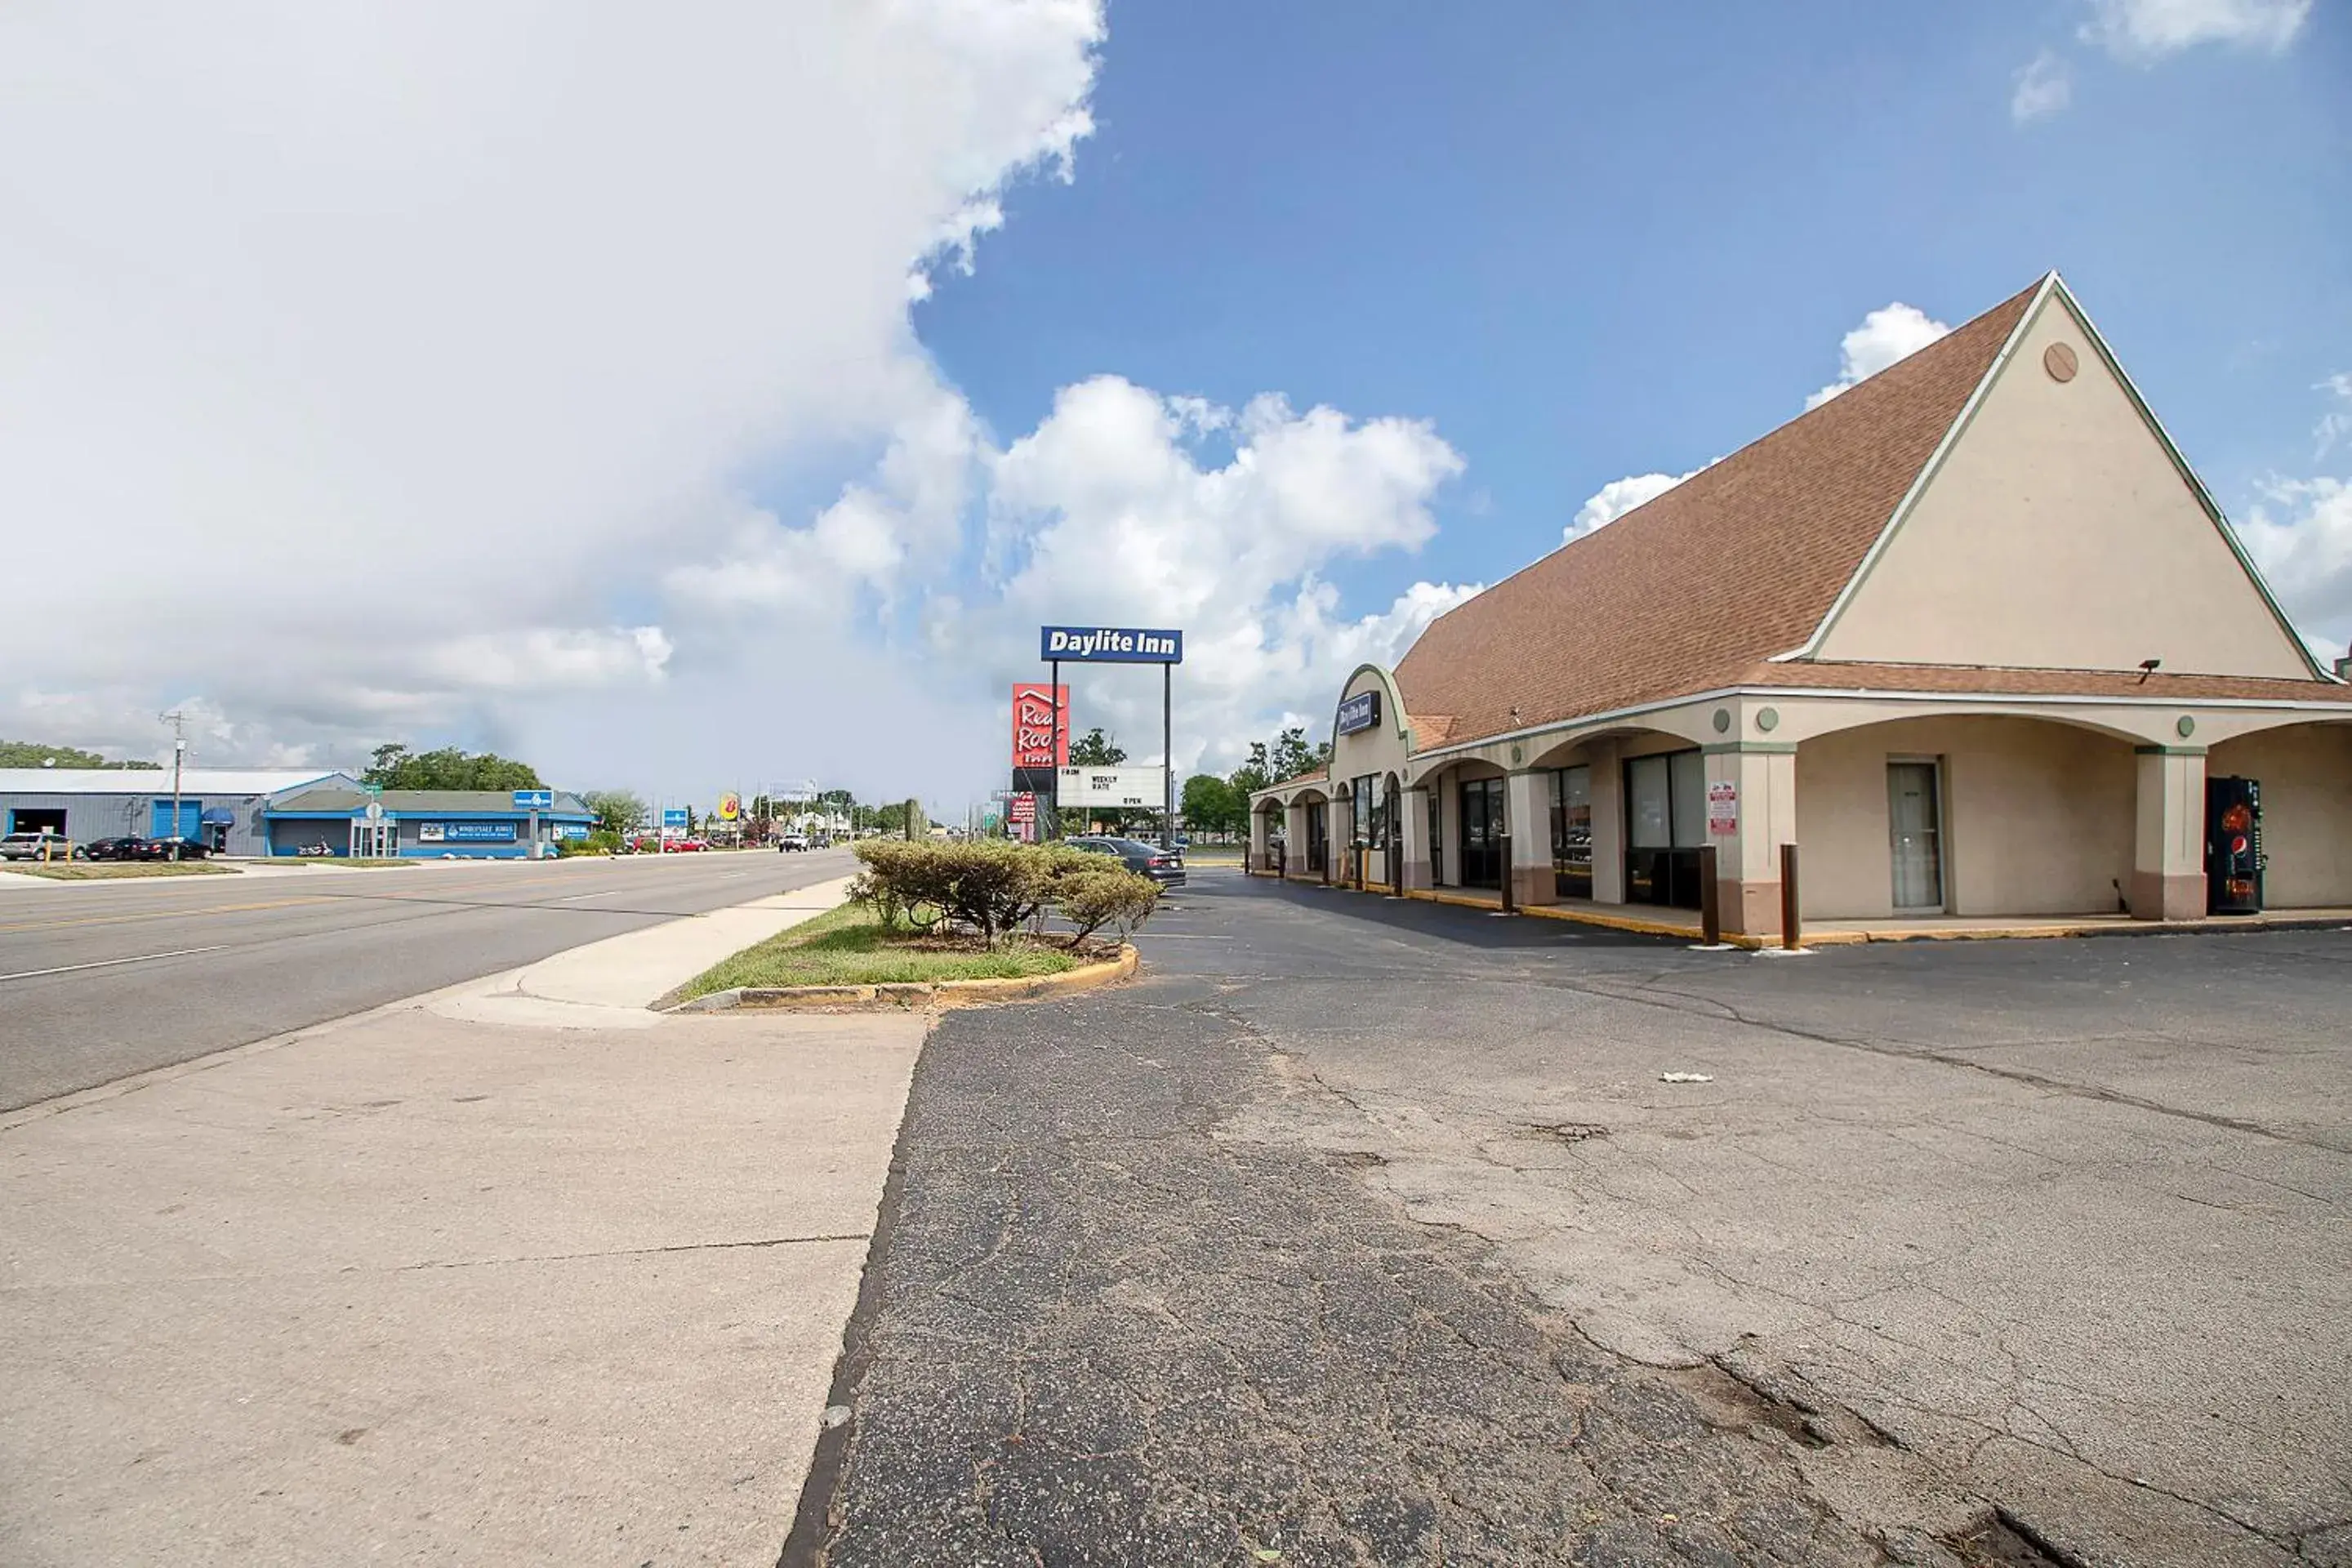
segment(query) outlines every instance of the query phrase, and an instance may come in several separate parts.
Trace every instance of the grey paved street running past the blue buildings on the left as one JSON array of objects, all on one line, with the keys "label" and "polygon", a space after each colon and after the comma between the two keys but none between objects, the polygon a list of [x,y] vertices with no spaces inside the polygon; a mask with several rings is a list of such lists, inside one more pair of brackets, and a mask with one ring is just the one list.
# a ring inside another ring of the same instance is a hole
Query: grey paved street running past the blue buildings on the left
[{"label": "grey paved street running past the blue buildings on the left", "polygon": [[0,1110],[851,865],[833,849],[5,886]]}]

